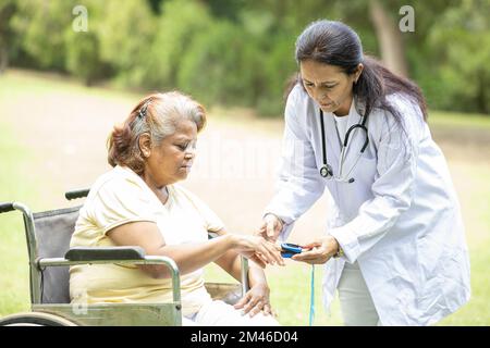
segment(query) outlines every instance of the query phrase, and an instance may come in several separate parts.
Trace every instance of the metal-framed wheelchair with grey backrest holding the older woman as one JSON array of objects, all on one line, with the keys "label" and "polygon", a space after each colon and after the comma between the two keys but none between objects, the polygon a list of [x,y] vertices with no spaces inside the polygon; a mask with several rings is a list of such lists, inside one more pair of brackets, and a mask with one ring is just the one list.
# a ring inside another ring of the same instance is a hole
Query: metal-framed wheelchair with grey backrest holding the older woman
[{"label": "metal-framed wheelchair with grey backrest holding the older woman", "polygon": [[[84,198],[89,189],[68,191],[68,200]],[[182,303],[176,263],[147,256],[140,247],[70,248],[82,206],[33,213],[20,202],[0,203],[0,213],[23,213],[29,261],[30,312],[0,318],[0,326],[181,326]],[[216,237],[210,233],[209,238]],[[164,264],[172,274],[171,302],[70,303],[69,268],[75,264]],[[235,303],[248,290],[248,262],[242,257],[241,283],[206,283],[213,299]]]}]

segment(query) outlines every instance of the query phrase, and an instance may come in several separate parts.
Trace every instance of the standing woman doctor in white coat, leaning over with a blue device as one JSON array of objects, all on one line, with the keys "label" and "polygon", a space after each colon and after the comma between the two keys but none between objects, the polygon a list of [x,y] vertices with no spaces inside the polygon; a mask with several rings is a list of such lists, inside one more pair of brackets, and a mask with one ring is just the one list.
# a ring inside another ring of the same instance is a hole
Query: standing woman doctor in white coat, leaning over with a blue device
[{"label": "standing woman doctor in white coat, leaning over with a blue device", "polygon": [[429,325],[468,301],[469,260],[444,156],[420,89],[363,54],[340,22],[296,41],[278,191],[257,232],[285,239],[324,192],[327,233],[296,261],[324,264],[327,310],[346,325]]}]

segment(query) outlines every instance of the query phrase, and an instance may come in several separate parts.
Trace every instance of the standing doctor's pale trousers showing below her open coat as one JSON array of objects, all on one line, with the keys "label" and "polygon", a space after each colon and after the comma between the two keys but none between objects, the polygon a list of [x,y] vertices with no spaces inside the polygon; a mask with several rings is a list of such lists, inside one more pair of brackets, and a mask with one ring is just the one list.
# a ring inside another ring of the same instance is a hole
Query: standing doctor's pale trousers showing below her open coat
[{"label": "standing doctor's pale trousers showing below her open coat", "polygon": [[339,299],[346,326],[380,326],[372,298],[357,262],[345,262],[339,281]]}]

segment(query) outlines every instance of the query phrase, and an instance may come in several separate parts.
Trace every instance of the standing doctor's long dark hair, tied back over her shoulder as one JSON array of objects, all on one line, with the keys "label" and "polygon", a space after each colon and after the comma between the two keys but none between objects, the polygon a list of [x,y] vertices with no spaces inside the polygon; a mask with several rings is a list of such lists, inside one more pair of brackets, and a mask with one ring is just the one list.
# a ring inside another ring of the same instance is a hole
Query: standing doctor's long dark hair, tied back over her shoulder
[{"label": "standing doctor's long dark hair, tied back over her shoulder", "polygon": [[[365,104],[364,116],[373,108],[389,111],[396,120],[400,112],[387,100],[391,94],[401,94],[416,102],[427,120],[427,105],[420,88],[412,80],[397,76],[371,57],[364,55],[358,35],[347,25],[335,21],[316,21],[309,24],[296,40],[296,61],[313,60],[319,63],[341,67],[345,74],[354,74],[359,63],[364,70],[353,86],[353,94]],[[290,88],[296,83],[303,86],[301,76],[290,82]],[[291,91],[287,90],[286,95]]]}]

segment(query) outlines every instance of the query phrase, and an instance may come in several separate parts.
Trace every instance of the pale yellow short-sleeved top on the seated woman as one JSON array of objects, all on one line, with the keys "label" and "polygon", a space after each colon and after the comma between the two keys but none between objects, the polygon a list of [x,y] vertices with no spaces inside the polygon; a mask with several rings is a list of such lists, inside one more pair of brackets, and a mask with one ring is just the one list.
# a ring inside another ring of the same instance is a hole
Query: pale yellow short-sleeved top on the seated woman
[{"label": "pale yellow short-sleeved top on the seated woman", "polygon": [[[220,219],[196,196],[179,185],[167,186],[169,199],[162,204],[132,170],[115,166],[101,175],[79,211],[71,247],[114,246],[107,233],[125,223],[157,223],[167,245],[199,243],[208,231],[223,228]],[[184,315],[197,312],[210,299],[203,270],[181,274]],[[70,268],[72,303],[139,302],[172,300],[171,278],[156,279],[136,265],[93,264]]]}]

